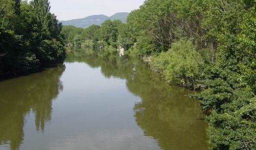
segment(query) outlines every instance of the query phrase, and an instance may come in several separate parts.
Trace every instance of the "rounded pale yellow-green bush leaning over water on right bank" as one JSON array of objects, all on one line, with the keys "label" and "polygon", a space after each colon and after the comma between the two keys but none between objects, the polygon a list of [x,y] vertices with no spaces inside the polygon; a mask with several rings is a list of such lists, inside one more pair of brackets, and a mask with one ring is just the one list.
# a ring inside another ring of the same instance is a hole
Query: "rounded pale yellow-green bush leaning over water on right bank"
[{"label": "rounded pale yellow-green bush leaning over water on right bank", "polygon": [[151,67],[164,78],[189,88],[199,88],[204,65],[200,54],[189,40],[172,43],[167,52],[152,57]]}]

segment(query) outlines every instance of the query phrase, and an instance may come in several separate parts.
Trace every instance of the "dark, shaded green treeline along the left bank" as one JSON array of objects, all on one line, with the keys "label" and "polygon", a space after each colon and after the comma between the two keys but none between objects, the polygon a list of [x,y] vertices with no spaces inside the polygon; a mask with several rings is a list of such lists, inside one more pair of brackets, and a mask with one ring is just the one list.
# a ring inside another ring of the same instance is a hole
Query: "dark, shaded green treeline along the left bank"
[{"label": "dark, shaded green treeline along the left bank", "polygon": [[27,74],[63,61],[60,31],[48,0],[0,0],[0,76]]}]

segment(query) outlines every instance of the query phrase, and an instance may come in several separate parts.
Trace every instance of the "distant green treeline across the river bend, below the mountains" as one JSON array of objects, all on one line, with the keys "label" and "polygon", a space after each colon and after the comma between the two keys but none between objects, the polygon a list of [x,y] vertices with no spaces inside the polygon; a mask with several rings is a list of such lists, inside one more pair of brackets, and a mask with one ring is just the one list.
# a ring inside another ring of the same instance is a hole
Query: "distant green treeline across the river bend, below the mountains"
[{"label": "distant green treeline across the river bend, below the mountains", "polygon": [[93,48],[94,50],[114,53],[119,47],[119,29],[123,25],[120,20],[105,20],[100,26],[91,25],[85,29],[72,25],[63,26],[62,34],[70,47]]}]

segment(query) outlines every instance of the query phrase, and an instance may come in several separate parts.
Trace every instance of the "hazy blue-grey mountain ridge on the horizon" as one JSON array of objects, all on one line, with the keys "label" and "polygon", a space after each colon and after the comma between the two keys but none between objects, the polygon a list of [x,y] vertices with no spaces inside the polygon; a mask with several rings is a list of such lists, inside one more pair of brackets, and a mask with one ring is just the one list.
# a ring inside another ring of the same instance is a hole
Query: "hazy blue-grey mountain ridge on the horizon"
[{"label": "hazy blue-grey mountain ridge on the horizon", "polygon": [[125,22],[128,14],[129,14],[128,12],[118,12],[109,17],[103,14],[90,15],[80,19],[72,19],[72,20],[59,21],[59,22],[61,22],[62,25],[73,25],[76,27],[86,28],[92,24],[100,25],[106,19],[110,19],[110,20],[119,19],[122,22]]}]

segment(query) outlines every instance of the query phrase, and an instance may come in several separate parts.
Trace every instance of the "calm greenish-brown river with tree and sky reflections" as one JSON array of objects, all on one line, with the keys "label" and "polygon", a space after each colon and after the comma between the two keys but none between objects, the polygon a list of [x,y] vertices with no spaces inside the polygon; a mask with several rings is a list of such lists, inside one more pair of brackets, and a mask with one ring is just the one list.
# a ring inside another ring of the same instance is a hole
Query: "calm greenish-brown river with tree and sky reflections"
[{"label": "calm greenish-brown river with tree and sky reflections", "polygon": [[207,149],[190,92],[140,61],[74,51],[0,81],[0,150]]}]

